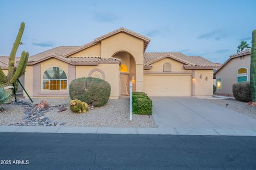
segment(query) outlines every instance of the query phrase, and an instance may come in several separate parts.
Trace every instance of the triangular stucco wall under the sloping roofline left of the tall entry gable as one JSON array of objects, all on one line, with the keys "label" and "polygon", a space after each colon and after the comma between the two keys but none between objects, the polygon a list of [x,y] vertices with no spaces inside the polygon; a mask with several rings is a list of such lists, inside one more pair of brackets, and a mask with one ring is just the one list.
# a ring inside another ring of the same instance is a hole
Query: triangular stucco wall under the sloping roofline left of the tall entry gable
[{"label": "triangular stucco wall under the sloping roofline left of the tall entry gable", "polygon": [[80,52],[72,54],[69,57],[100,57],[100,56],[101,56],[101,43],[98,43],[89,48],[81,50]]}]

